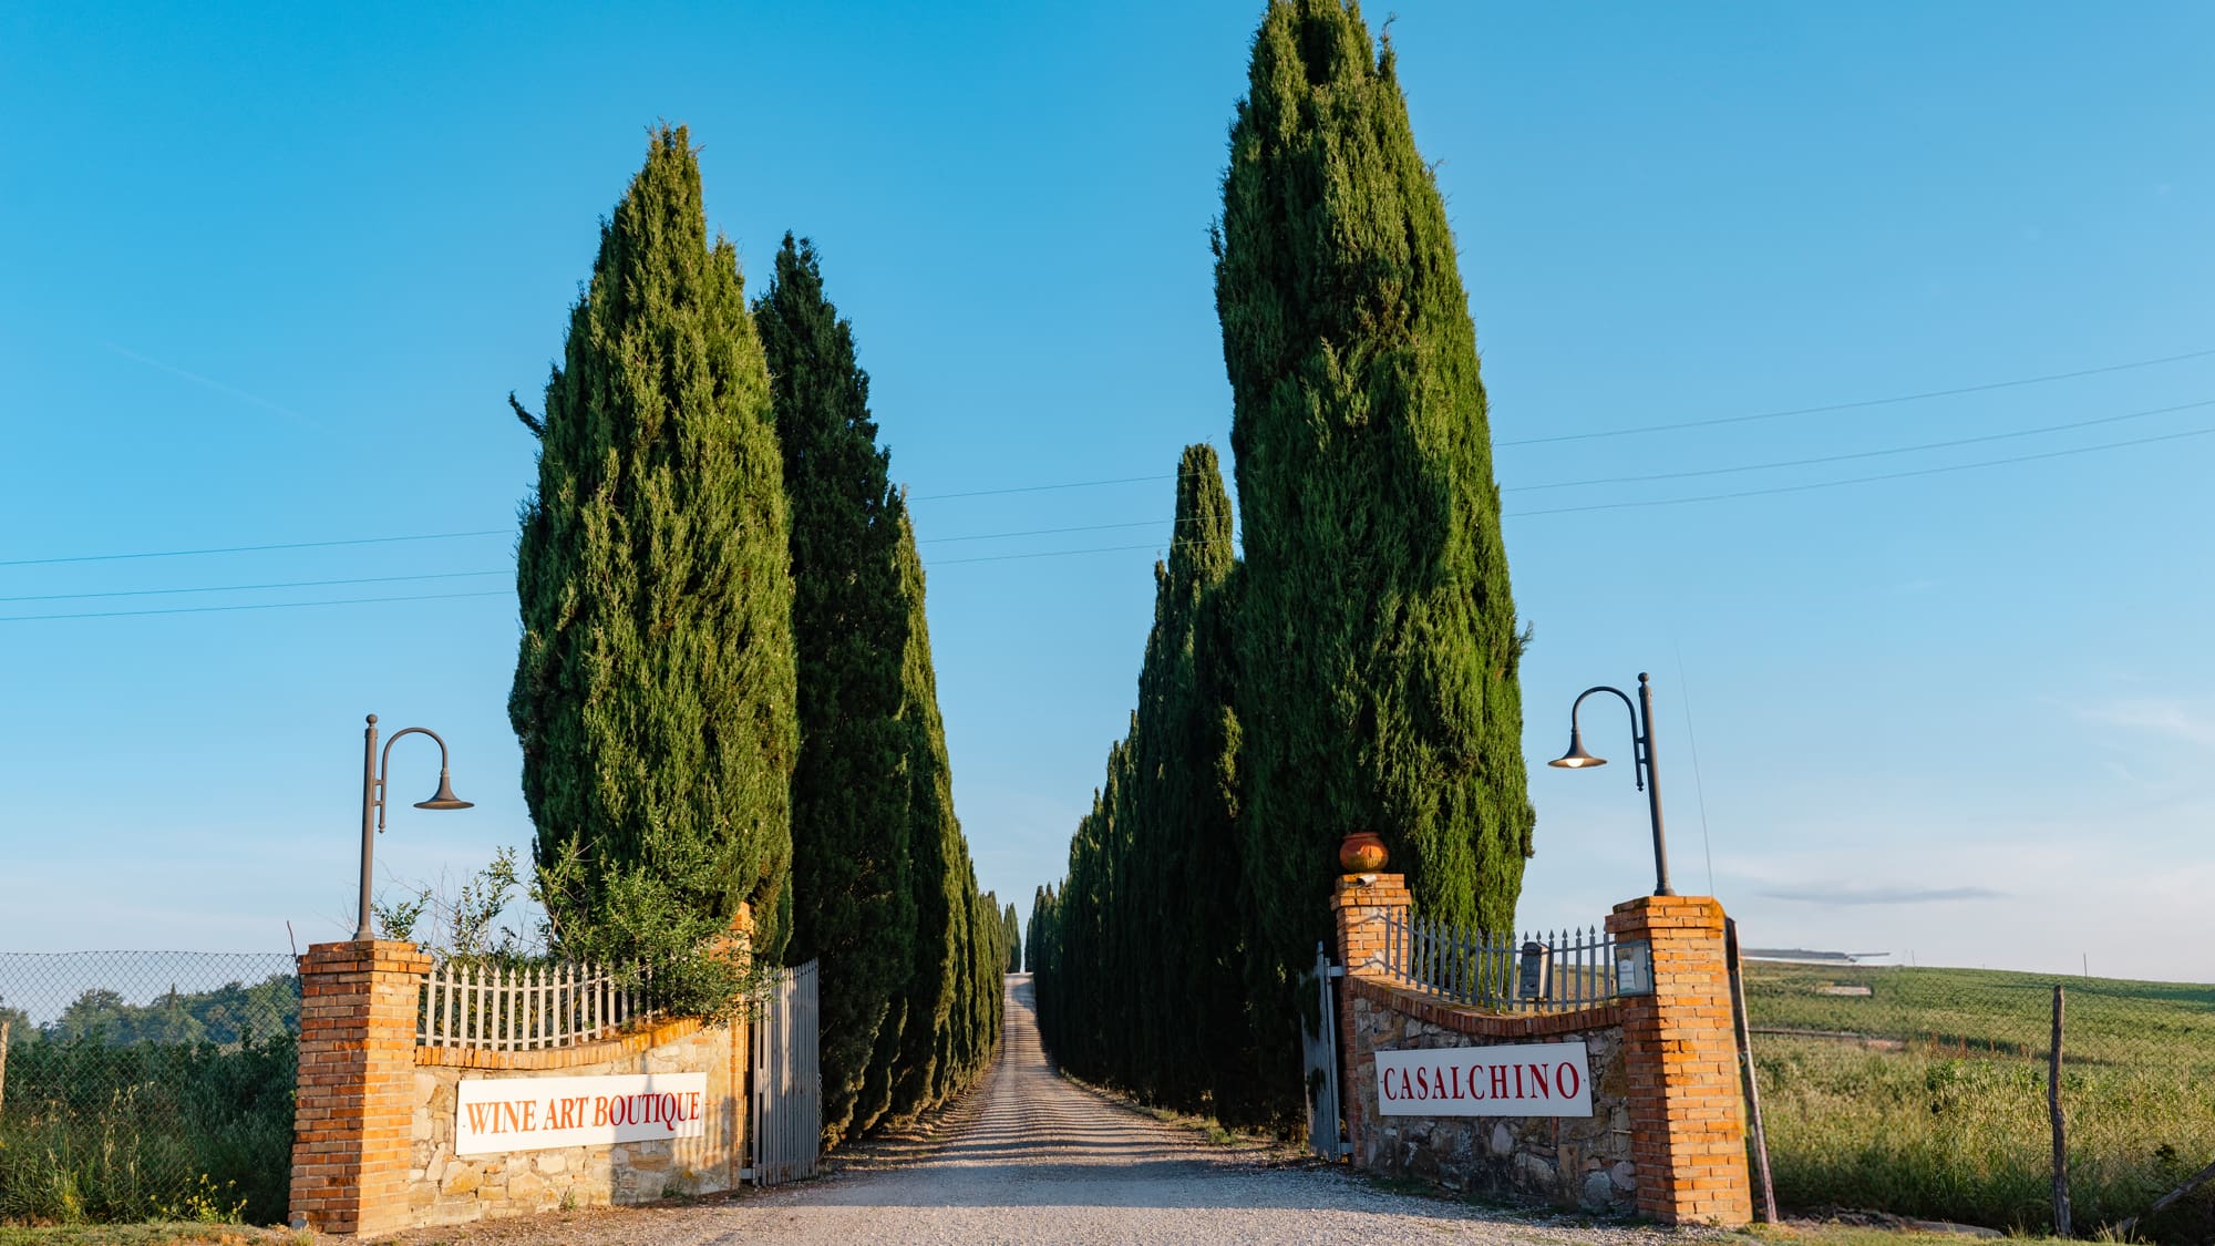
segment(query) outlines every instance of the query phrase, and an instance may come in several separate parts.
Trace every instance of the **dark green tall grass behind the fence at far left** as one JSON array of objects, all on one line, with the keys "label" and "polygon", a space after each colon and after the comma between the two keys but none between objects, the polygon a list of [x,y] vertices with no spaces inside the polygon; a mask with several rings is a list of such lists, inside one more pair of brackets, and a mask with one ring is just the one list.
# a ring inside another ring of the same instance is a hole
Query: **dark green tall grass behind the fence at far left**
[{"label": "dark green tall grass behind the fence at far left", "polygon": [[13,1044],[0,1222],[284,1219],[297,1066],[290,1033],[228,1046]]}]

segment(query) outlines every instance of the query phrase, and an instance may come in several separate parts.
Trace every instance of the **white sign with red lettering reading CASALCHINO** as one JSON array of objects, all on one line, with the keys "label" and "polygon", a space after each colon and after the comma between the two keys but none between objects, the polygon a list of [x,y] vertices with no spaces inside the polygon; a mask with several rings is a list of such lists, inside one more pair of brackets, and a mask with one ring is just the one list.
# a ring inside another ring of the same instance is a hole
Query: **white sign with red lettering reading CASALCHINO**
[{"label": "white sign with red lettering reading CASALCHINO", "polygon": [[1378,1051],[1382,1115],[1593,1115],[1582,1042]]}]

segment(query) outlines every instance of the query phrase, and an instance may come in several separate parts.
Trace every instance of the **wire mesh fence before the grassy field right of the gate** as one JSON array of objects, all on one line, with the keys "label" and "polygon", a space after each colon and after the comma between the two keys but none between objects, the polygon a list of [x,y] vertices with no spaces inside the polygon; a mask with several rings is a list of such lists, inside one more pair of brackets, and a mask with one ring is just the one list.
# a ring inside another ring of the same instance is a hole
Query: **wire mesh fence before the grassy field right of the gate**
[{"label": "wire mesh fence before the grassy field right of the gate", "polygon": [[2071,1228],[2215,1242],[2215,987],[1980,969],[1745,962],[1785,1208],[2051,1233],[2053,989]]}]

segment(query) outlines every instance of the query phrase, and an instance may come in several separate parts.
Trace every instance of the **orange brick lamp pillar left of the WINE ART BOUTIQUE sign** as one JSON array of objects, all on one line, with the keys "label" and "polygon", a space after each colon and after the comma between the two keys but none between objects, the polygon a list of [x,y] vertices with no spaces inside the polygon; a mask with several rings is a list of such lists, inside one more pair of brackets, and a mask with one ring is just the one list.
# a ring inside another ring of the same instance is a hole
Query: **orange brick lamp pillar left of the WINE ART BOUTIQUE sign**
[{"label": "orange brick lamp pillar left of the WINE ART BOUTIQUE sign", "polygon": [[408,1217],[416,1000],[412,942],[317,942],[299,958],[292,1217],[321,1233],[390,1233]]}]

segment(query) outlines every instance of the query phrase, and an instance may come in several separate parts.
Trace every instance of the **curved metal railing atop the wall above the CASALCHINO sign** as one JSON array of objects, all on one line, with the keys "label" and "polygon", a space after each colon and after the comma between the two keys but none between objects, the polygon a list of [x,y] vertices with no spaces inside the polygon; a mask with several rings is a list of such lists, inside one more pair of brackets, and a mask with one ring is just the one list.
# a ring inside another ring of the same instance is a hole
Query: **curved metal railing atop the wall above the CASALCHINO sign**
[{"label": "curved metal railing atop the wall above the CASALCHINO sign", "polygon": [[1519,940],[1384,916],[1384,969],[1455,1004],[1497,1011],[1566,1011],[1615,998],[1615,940],[1599,927],[1526,933]]}]

